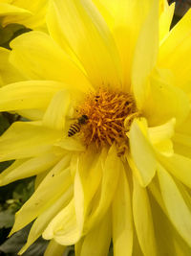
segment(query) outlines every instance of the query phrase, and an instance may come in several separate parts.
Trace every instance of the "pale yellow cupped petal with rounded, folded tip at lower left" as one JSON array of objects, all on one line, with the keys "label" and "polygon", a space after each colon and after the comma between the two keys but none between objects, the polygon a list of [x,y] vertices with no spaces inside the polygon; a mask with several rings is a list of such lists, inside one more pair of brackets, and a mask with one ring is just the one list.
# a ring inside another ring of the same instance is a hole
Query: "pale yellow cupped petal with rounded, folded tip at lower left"
[{"label": "pale yellow cupped petal with rounded, folded tip at lower left", "polygon": [[63,208],[51,221],[43,232],[43,238],[54,239],[58,244],[70,245],[79,241],[82,230],[78,228],[75,212],[74,199]]}]

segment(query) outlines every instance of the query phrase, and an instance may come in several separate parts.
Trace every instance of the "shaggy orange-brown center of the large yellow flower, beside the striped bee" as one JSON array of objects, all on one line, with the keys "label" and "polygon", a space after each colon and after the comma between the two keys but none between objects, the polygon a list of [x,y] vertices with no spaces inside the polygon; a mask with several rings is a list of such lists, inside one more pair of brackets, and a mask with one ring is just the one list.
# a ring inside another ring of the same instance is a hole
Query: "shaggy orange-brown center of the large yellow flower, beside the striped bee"
[{"label": "shaggy orange-brown center of the large yellow flower, beside the striped bee", "polygon": [[77,107],[77,112],[88,117],[80,132],[85,145],[95,144],[100,148],[116,143],[125,151],[126,133],[138,116],[131,94],[99,88],[96,94],[87,95],[82,105]]}]

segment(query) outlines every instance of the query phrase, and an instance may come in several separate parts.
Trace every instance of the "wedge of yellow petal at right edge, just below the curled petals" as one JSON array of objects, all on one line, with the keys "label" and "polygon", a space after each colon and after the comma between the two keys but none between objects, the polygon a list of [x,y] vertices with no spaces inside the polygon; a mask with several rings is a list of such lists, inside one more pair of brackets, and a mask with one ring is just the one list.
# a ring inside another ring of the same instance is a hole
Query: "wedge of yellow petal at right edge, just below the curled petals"
[{"label": "wedge of yellow petal at right edge, just below the curled petals", "polygon": [[191,188],[191,159],[180,154],[173,154],[171,157],[160,157],[162,164],[176,176],[183,184]]}]

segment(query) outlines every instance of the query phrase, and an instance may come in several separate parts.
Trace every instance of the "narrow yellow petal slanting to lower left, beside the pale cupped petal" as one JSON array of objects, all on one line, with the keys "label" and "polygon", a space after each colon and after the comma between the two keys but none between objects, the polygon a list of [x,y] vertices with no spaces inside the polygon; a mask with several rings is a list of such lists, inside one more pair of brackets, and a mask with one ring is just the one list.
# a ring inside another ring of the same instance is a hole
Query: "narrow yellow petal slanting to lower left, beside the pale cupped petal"
[{"label": "narrow yellow petal slanting to lower left, beside the pale cupped petal", "polygon": [[[46,211],[44,211],[32,224],[32,229],[30,230],[27,244],[25,244],[22,249],[19,251],[20,254],[24,253],[28,247],[33,244],[33,242],[41,236],[47,225],[50,221],[53,220],[53,217],[61,211],[63,207],[65,207],[73,195],[73,187],[70,187],[68,191],[66,191],[60,198],[55,200],[53,202],[53,205],[51,205]],[[51,242],[53,245],[53,243]],[[54,244],[56,245],[56,243]],[[57,244],[58,245],[58,244]],[[60,245],[60,249],[63,248],[62,245]],[[56,246],[57,247],[57,246]],[[46,253],[50,253],[52,251],[52,246],[49,246],[49,248],[46,250]],[[56,249],[56,248],[55,248]],[[58,249],[58,248],[57,248]],[[56,252],[56,250],[55,250]],[[49,255],[49,254],[48,254]],[[51,255],[51,254],[50,254]]]}]

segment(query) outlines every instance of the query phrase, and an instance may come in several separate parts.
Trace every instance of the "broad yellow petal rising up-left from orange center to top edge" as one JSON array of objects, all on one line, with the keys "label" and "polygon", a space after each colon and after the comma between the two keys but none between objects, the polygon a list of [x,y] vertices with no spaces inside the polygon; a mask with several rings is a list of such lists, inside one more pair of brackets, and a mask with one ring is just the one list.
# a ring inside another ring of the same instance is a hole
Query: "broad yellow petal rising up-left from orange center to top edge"
[{"label": "broad yellow petal rising up-left from orange center to top edge", "polygon": [[94,85],[120,85],[115,42],[91,1],[52,1],[48,25],[55,39],[61,36],[72,48]]}]

